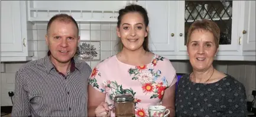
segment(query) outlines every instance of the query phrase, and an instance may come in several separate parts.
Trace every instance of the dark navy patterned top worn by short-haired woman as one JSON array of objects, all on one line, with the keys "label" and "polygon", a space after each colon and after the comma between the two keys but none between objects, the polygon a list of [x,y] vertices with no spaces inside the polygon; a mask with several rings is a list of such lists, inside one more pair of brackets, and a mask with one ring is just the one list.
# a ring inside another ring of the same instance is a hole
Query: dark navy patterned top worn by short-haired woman
[{"label": "dark navy patterned top worn by short-haired woman", "polygon": [[245,87],[232,76],[215,83],[193,83],[183,75],[177,86],[176,116],[247,116]]}]

